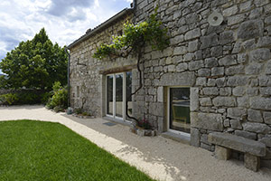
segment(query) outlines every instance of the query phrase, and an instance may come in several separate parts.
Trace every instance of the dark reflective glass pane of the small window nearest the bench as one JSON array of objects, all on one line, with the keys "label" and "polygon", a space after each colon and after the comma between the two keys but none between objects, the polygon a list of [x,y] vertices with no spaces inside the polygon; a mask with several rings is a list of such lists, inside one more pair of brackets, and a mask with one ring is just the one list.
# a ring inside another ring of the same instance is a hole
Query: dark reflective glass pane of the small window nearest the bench
[{"label": "dark reflective glass pane of the small window nearest the bench", "polygon": [[190,133],[190,88],[170,88],[170,129]]}]

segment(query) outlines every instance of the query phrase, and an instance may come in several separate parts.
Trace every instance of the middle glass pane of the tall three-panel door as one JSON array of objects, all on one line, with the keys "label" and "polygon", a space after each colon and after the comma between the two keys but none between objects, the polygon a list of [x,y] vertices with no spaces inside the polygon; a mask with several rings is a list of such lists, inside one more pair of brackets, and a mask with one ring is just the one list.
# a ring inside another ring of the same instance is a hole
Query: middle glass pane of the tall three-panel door
[{"label": "middle glass pane of the tall three-panel door", "polygon": [[116,116],[123,117],[123,74],[116,74]]}]

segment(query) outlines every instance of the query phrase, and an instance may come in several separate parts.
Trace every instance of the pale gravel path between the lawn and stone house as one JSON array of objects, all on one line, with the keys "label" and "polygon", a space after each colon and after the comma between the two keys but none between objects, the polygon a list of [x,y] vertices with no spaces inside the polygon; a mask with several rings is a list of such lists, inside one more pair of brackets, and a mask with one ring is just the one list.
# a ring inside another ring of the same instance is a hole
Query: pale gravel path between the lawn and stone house
[{"label": "pale gravel path between the lawn and stone house", "polygon": [[0,120],[15,119],[59,122],[157,180],[271,180],[270,169],[255,173],[243,162],[217,160],[207,150],[163,137],[142,138],[126,126],[107,126],[104,119],[78,119],[42,106],[0,107]]}]

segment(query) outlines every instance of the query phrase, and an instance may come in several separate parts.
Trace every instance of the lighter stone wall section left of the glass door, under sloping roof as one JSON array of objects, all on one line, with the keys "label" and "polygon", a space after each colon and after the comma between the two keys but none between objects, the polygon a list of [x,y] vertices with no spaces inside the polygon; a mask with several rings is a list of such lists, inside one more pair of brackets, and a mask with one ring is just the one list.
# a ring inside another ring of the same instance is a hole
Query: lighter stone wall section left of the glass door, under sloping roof
[{"label": "lighter stone wall section left of the glass door, under sloping roof", "polygon": [[[100,71],[132,65],[136,61],[132,57],[99,61],[92,56],[101,43],[111,43],[112,36],[118,35],[123,29],[123,24],[128,20],[133,21],[132,17],[132,14],[127,15],[70,49],[71,107],[90,111],[98,117],[105,115],[102,110],[105,111],[106,76]],[[102,109],[103,107],[104,109]]]}]

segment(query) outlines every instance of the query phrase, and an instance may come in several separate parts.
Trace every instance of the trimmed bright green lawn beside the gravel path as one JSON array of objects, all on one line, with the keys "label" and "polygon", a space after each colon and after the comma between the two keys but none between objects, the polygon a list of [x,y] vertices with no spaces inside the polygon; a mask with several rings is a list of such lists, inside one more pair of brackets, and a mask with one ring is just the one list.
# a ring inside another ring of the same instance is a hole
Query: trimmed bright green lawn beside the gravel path
[{"label": "trimmed bright green lawn beside the gravel path", "polygon": [[0,122],[0,180],[152,180],[58,123]]}]

